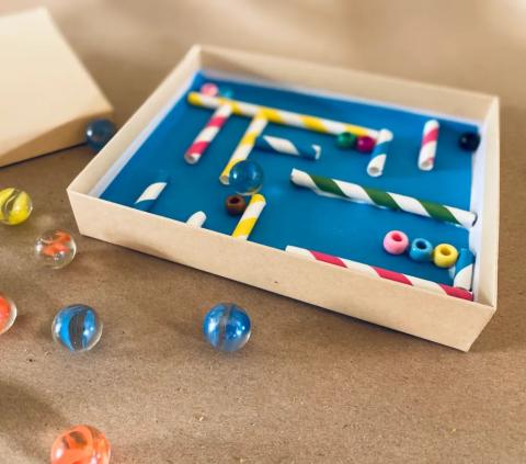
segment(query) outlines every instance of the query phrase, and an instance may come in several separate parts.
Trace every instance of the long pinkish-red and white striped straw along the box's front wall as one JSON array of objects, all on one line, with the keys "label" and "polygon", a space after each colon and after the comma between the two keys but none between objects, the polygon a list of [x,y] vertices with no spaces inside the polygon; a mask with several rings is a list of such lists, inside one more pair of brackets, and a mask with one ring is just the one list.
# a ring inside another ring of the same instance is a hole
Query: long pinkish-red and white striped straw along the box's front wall
[{"label": "long pinkish-red and white striped straw along the box's front wall", "polygon": [[367,273],[368,275],[371,275],[375,278],[387,279],[387,280],[399,282],[405,285],[416,286],[419,288],[428,290],[434,293],[455,296],[457,298],[464,298],[469,301],[473,299],[472,293],[464,288],[456,288],[449,285],[444,285],[441,283],[427,281],[424,279],[413,278],[412,275],[401,274],[399,272],[393,272],[387,269],[377,268],[376,265],[363,264],[361,262],[351,261],[351,260],[339,258],[332,254],[325,254],[319,251],[308,250],[306,248],[298,248],[293,246],[287,246],[285,248],[285,251],[287,253],[307,258],[309,260],[322,261],[329,264],[340,265],[341,268]]}]

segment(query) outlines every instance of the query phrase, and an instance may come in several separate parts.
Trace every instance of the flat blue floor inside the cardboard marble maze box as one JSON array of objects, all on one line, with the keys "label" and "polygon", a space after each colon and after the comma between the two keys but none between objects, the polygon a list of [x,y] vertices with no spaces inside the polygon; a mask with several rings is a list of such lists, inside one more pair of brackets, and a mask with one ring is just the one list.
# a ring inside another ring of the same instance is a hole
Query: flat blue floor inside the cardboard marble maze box
[{"label": "flat blue floor inside the cardboard marble maze box", "polygon": [[[366,173],[369,157],[357,151],[340,150],[335,136],[271,124],[265,134],[289,137],[301,143],[319,144],[318,161],[254,150],[250,157],[261,163],[265,182],[261,193],[267,200],[250,239],[284,249],[287,245],[305,247],[365,262],[393,271],[450,284],[447,270],[432,263],[416,263],[407,256],[390,256],[382,249],[382,238],[391,229],[405,231],[410,239],[423,237],[433,244],[468,246],[468,231],[430,218],[369,205],[319,196],[294,186],[293,168],[366,186],[414,195],[449,206],[469,210],[471,155],[461,151],[457,139],[474,126],[438,118],[441,132],[433,171],[418,169],[416,160],[424,123],[431,117],[396,109],[350,102],[286,90],[270,89],[233,81],[214,81],[233,90],[235,99],[265,104],[299,113],[344,121],[371,128],[389,128],[395,134],[384,176]],[[197,73],[192,89],[205,81]],[[195,107],[180,100],[121,173],[101,195],[102,199],[133,205],[159,170],[171,173],[170,184],[151,213],[186,220],[196,211],[207,215],[206,228],[231,234],[238,218],[225,212],[225,197],[233,191],[218,178],[249,120],[232,116],[197,165],[190,166],[183,155],[211,115],[210,110]]]}]

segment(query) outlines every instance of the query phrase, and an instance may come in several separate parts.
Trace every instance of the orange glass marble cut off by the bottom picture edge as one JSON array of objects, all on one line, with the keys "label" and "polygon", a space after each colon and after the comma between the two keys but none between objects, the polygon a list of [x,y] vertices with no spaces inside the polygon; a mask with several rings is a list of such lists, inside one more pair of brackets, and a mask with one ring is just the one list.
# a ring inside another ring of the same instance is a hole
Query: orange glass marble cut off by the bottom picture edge
[{"label": "orange glass marble cut off by the bottom picture edge", "polygon": [[52,446],[52,464],[108,464],[111,445],[91,426],[76,426],[61,433]]}]

